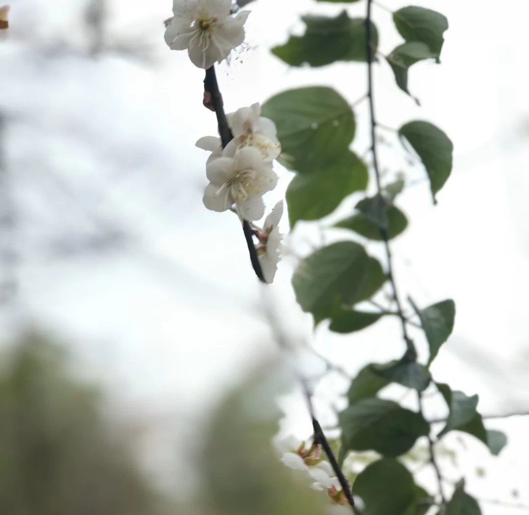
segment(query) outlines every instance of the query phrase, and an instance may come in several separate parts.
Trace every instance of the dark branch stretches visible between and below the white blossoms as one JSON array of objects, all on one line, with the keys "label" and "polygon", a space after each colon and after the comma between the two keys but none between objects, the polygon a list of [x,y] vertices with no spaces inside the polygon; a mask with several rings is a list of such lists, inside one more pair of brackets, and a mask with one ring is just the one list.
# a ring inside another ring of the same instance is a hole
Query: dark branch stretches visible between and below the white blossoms
[{"label": "dark branch stretches visible between and below the white blossoms", "polygon": [[[221,135],[222,146],[225,147],[233,139],[233,134],[228,125],[226,113],[224,112],[224,104],[222,102],[222,95],[218,89],[217,76],[215,74],[215,67],[212,66],[206,70],[206,77],[204,78],[204,91],[211,95],[211,104],[217,116],[218,132]],[[265,282],[265,276],[259,263],[256,246],[253,243],[253,232],[248,220],[242,221],[242,230],[244,238],[248,246],[248,253],[250,254],[250,261],[252,263],[253,271],[261,282]]]}]

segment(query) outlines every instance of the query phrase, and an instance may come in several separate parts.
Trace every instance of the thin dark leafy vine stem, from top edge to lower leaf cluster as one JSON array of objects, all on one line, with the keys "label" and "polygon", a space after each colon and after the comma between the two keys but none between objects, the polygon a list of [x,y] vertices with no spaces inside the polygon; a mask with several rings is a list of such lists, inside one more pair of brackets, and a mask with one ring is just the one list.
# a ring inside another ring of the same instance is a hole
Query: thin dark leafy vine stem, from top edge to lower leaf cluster
[{"label": "thin dark leafy vine stem, from top edge to lower leaf cluster", "polygon": [[[367,54],[367,64],[368,64],[368,99],[369,99],[369,113],[371,117],[371,152],[373,155],[373,168],[375,170],[375,179],[377,182],[377,192],[379,195],[382,194],[382,187],[380,184],[380,170],[378,166],[377,158],[377,121],[375,118],[375,99],[373,95],[373,59],[372,59],[372,50],[371,50],[371,6],[373,0],[368,0],[367,2],[367,15],[366,15],[366,54]],[[386,257],[388,261],[388,280],[393,290],[393,297],[397,306],[397,316],[400,318],[400,323],[402,325],[402,336],[406,342],[407,351],[413,356],[416,356],[416,351],[413,345],[411,338],[408,336],[408,330],[406,326],[406,317],[400,304],[398,297],[397,286],[395,283],[395,277],[393,274],[393,265],[391,264],[391,249],[389,248],[389,239],[388,232],[386,228],[380,228],[380,234],[384,240],[384,247],[386,250]]]}]

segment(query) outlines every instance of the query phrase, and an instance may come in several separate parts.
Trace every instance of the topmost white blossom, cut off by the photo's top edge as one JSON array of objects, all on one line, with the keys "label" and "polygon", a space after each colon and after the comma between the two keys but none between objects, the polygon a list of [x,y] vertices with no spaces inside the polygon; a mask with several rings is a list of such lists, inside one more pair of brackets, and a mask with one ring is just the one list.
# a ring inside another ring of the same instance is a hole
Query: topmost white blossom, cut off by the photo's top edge
[{"label": "topmost white blossom, cut off by the photo's top edge", "polygon": [[231,15],[231,0],[174,0],[174,16],[165,21],[165,41],[171,50],[186,50],[198,68],[220,63],[244,41],[250,11]]}]

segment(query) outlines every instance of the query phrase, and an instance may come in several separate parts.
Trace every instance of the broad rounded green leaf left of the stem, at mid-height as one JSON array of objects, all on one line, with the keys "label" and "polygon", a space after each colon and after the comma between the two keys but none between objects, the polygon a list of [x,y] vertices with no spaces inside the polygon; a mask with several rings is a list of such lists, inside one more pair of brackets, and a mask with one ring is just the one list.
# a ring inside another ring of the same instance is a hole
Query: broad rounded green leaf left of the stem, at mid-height
[{"label": "broad rounded green leaf left of the stem, at mid-height", "polygon": [[380,263],[355,242],[318,249],[298,266],[292,285],[305,312],[329,317],[336,297],[350,305],[370,298],[385,282]]}]

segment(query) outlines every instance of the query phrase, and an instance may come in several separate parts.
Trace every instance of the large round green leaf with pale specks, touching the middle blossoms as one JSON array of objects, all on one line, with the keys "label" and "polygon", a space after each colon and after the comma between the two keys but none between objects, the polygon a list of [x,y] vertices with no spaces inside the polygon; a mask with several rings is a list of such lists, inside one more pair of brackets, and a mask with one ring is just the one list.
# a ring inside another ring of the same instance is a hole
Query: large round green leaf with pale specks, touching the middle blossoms
[{"label": "large round green leaf with pale specks, touching the middle blossoms", "polygon": [[356,128],[349,103],[329,87],[281,92],[263,104],[261,113],[275,122],[290,169],[300,173],[337,161],[349,148]]}]

